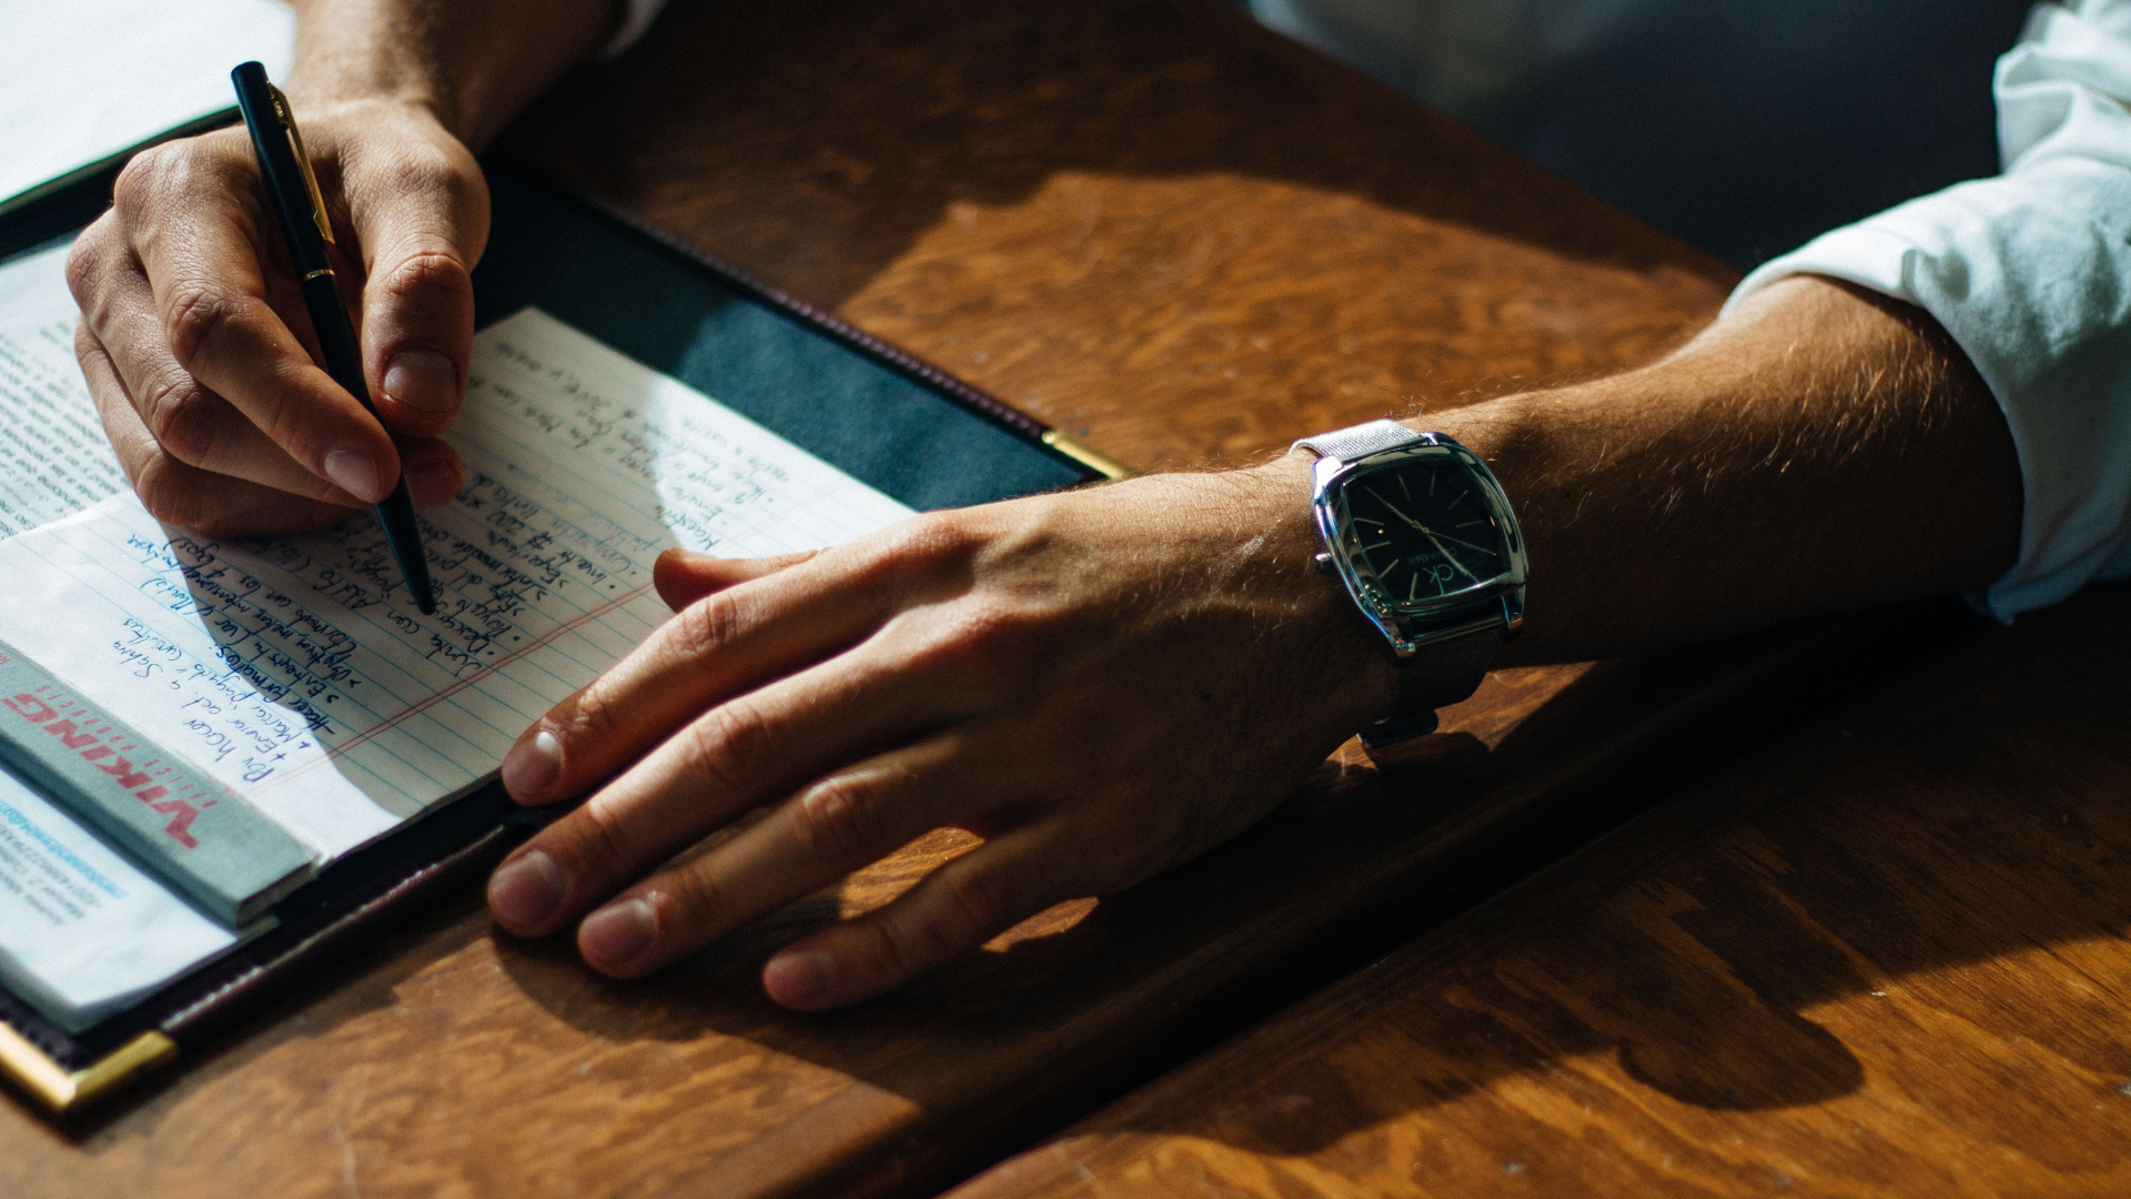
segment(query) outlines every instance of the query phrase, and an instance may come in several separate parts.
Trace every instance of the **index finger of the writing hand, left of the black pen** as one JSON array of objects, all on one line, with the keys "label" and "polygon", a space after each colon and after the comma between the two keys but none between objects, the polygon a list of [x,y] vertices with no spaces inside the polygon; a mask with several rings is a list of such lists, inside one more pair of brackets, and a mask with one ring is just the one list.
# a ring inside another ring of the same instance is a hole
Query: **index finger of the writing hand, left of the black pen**
[{"label": "index finger of the writing hand, left of the black pen", "polygon": [[196,160],[130,166],[115,198],[175,363],[305,469],[367,503],[384,499],[401,469],[392,437],[266,299],[260,258],[279,230],[258,207],[256,177]]}]

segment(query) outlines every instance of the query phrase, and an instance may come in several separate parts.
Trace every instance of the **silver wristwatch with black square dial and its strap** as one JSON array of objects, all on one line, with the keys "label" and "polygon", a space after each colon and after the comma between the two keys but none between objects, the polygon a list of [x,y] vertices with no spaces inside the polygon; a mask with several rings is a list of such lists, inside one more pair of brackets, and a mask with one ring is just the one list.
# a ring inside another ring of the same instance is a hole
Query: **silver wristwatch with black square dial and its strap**
[{"label": "silver wristwatch with black square dial and its strap", "polygon": [[1479,689],[1524,625],[1517,514],[1487,463],[1445,433],[1370,420],[1294,448],[1317,454],[1317,567],[1383,632],[1402,674],[1398,704],[1362,742],[1434,732],[1436,708]]}]

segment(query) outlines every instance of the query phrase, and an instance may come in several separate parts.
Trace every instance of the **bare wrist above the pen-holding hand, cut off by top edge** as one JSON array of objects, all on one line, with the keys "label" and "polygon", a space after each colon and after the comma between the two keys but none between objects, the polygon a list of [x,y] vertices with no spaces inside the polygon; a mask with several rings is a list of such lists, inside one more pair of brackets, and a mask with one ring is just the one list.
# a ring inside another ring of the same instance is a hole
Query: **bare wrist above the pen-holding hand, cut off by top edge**
[{"label": "bare wrist above the pen-holding hand, cut off by top edge", "polygon": [[482,149],[599,49],[616,0],[298,0],[298,107],[396,100]]}]

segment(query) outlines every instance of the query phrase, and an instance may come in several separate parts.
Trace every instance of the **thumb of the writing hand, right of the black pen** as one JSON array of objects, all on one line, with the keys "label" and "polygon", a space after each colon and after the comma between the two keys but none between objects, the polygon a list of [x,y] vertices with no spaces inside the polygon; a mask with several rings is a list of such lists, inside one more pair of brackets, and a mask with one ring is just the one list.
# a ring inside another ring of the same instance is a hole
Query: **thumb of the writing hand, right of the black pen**
[{"label": "thumb of the writing hand, right of the black pen", "polygon": [[435,437],[458,418],[473,358],[473,265],[488,186],[473,156],[388,173],[392,194],[352,205],[364,250],[362,363],[386,427]]}]

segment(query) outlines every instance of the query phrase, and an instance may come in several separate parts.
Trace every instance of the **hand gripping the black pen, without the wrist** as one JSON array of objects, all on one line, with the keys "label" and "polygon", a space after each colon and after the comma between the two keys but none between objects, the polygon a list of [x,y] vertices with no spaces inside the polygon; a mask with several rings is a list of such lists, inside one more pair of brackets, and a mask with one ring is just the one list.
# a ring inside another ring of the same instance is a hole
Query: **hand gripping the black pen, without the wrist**
[{"label": "hand gripping the black pen, without the wrist", "polygon": [[243,126],[160,145],[75,243],[75,350],[141,501],[209,535],[307,531],[392,491],[452,499],[473,352],[469,271],[488,186],[437,117],[398,100],[294,100],[332,213],[373,418],[315,339]]}]

